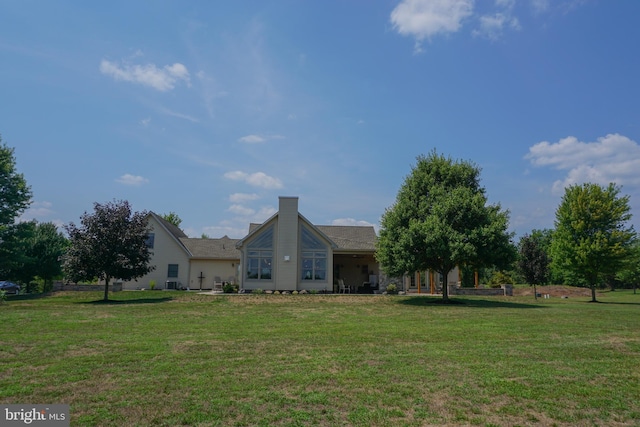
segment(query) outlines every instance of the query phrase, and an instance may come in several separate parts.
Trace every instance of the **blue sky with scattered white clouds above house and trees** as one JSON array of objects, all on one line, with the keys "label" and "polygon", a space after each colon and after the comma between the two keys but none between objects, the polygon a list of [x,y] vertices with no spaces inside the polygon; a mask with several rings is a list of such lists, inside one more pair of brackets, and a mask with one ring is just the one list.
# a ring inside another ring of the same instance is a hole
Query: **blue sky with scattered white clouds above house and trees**
[{"label": "blue sky with scattered white clouds above house and trees", "polygon": [[637,0],[0,0],[20,219],[128,200],[241,238],[297,196],[315,224],[379,229],[435,150],[481,169],[516,236],[584,182],[619,185],[635,225],[638,17]]}]

